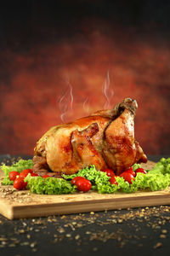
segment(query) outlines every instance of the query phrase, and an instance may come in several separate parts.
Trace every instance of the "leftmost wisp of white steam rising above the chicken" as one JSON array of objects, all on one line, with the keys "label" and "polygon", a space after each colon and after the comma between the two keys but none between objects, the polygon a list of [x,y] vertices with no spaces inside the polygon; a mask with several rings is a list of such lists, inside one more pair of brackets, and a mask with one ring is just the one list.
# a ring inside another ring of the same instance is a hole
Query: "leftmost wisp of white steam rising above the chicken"
[{"label": "leftmost wisp of white steam rising above the chicken", "polygon": [[60,119],[63,123],[65,123],[66,116],[72,112],[72,104],[73,104],[73,95],[72,95],[72,86],[69,80],[66,80],[67,90],[65,90],[65,94],[61,96],[59,100],[59,112]]}]

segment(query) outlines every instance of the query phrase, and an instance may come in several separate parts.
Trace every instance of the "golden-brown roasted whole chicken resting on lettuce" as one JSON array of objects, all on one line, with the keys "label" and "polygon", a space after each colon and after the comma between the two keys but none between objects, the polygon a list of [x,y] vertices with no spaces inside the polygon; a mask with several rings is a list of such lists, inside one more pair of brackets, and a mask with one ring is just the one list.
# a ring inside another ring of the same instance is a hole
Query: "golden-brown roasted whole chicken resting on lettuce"
[{"label": "golden-brown roasted whole chicken resting on lettuce", "polygon": [[135,100],[125,98],[111,110],[52,127],[34,148],[33,171],[60,177],[94,165],[119,175],[134,163],[145,163],[147,157],[134,138],[137,108]]}]

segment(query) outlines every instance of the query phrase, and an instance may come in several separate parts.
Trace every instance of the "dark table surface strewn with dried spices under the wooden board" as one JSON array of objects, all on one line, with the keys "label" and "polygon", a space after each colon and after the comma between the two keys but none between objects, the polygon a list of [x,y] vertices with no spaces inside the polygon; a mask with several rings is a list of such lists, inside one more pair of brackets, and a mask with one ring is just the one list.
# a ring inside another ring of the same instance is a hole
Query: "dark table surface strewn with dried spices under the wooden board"
[{"label": "dark table surface strewn with dried spices under the wooden board", "polygon": [[[1,155],[0,161],[9,164],[16,157]],[[149,160],[161,157],[167,155],[149,156]],[[109,253],[170,255],[170,206],[17,220],[0,215],[1,256]]]}]

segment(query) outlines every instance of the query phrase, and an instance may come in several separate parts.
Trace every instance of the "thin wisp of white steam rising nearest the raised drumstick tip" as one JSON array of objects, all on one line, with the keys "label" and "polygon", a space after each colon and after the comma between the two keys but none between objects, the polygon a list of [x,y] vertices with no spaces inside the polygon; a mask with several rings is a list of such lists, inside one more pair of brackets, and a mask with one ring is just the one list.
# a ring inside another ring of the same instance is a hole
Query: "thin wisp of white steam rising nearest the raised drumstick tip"
[{"label": "thin wisp of white steam rising nearest the raised drumstick tip", "polygon": [[110,75],[109,75],[109,71],[107,72],[106,78],[105,78],[105,82],[102,86],[102,91],[105,95],[105,105],[104,105],[104,109],[108,109],[111,108],[111,98],[114,95],[114,91],[111,89],[110,86]]}]

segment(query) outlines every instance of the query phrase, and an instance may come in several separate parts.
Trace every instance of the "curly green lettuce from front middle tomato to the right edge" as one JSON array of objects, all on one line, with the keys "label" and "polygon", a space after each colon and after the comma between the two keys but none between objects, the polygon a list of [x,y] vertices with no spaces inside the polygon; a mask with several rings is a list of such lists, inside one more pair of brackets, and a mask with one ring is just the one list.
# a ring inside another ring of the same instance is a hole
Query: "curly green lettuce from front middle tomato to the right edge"
[{"label": "curly green lettuce from front middle tomato to the right edge", "polygon": [[[169,173],[169,159],[161,159],[158,162],[156,168],[153,171],[149,171],[147,174],[137,173],[136,177],[132,181],[132,184],[127,183],[123,177],[116,177],[116,184],[110,183],[110,177],[107,177],[105,172],[99,172],[95,166],[86,167],[76,174],[63,175],[65,179],[72,179],[74,177],[86,177],[93,184],[92,189],[98,191],[100,194],[116,193],[121,191],[124,193],[133,193],[139,189],[148,189],[151,191],[167,189],[170,185],[170,173]],[[162,167],[163,166],[163,167]],[[133,171],[140,168],[141,165],[134,164]],[[161,168],[160,168],[161,167]],[[156,170],[156,171],[155,171]],[[156,173],[155,173],[156,172]]]}]

